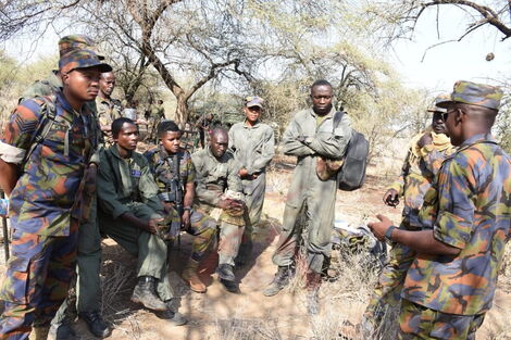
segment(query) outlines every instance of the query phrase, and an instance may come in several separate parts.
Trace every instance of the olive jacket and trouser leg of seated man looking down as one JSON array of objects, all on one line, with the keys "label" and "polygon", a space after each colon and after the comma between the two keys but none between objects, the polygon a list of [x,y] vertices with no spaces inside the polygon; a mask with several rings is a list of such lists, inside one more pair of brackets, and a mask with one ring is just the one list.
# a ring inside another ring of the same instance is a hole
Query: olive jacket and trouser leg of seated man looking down
[{"label": "olive jacket and trouser leg of seated man looking down", "polygon": [[[242,193],[239,165],[230,153],[226,152],[216,159],[207,147],[194,153],[191,161],[197,174],[195,211],[210,214],[227,189]],[[235,265],[234,259],[238,254],[244,229],[245,226],[220,222],[219,264]]]}]

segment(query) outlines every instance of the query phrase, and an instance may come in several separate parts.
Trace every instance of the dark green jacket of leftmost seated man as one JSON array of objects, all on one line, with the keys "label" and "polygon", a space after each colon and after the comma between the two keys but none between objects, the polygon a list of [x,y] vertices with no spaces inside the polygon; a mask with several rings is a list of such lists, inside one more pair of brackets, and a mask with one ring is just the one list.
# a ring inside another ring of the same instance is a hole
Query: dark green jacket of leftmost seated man
[{"label": "dark green jacket of leftmost seated man", "polygon": [[158,186],[142,154],[134,151],[129,159],[123,159],[113,144],[101,150],[100,162],[98,203],[104,213],[117,218],[130,211],[132,202],[145,203],[154,212],[163,211]]}]

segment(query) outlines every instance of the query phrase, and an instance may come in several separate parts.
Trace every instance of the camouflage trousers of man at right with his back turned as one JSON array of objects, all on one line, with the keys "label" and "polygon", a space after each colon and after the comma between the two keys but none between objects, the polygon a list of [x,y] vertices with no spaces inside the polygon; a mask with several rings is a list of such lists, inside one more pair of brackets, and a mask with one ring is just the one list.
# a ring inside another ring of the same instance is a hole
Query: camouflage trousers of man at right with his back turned
[{"label": "camouflage trousers of man at right with his back turned", "polygon": [[408,300],[401,303],[400,340],[475,340],[485,314],[456,315],[434,311]]}]

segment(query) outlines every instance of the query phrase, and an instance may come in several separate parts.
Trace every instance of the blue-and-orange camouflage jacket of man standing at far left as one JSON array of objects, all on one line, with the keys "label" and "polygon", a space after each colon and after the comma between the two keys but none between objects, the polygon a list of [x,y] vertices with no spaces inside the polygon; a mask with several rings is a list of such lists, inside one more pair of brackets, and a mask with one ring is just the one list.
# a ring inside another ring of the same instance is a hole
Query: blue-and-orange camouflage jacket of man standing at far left
[{"label": "blue-and-orange camouflage jacket of man standing at far left", "polygon": [[[53,98],[48,98],[53,101]],[[55,119],[24,164],[10,197],[14,228],[47,236],[67,236],[71,217],[80,217],[84,172],[97,148],[97,130],[88,105],[76,112],[58,91]],[[5,125],[0,156],[21,164],[43,114],[43,100],[23,101]],[[49,124],[49,123],[47,123]]]}]

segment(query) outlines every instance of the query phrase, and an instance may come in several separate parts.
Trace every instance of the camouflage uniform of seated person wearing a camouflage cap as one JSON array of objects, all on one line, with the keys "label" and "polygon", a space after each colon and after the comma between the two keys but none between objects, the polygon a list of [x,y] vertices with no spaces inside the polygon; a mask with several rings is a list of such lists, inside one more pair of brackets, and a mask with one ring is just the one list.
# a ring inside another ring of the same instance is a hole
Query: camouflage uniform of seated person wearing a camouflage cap
[{"label": "camouflage uniform of seated person wearing a camouflage cap", "polygon": [[[174,161],[165,149],[160,146],[148,150],[145,156],[149,161],[151,172],[157,181],[159,193],[166,191],[165,182],[160,178],[163,176],[165,179],[174,178],[172,172],[172,162]],[[183,187],[187,184],[195,182],[196,169],[191,162],[191,155],[188,151],[179,151],[179,181]],[[183,204],[183,202],[182,202]],[[180,223],[180,217],[177,215],[177,211],[173,209],[172,212],[174,222]],[[214,241],[216,236],[216,221],[204,214],[203,212],[191,210],[190,212],[190,227],[186,230],[188,234],[195,236],[191,244],[191,259],[200,262],[204,256],[205,251]]]}]

